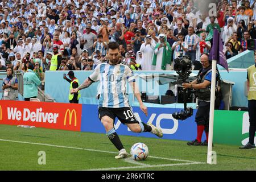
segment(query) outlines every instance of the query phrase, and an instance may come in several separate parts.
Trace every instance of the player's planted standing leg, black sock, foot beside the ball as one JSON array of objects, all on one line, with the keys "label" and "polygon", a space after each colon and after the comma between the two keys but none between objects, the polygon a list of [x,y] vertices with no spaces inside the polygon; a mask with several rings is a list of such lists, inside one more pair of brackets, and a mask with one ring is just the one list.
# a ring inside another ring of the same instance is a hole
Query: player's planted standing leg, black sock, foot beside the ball
[{"label": "player's planted standing leg, black sock, foot beside the ball", "polygon": [[109,108],[104,107],[100,107],[98,113],[101,123],[105,127],[106,135],[119,151],[119,154],[115,156],[115,159],[127,158],[128,154],[125,151],[125,148],[123,148],[123,144],[114,129],[114,113]]}]

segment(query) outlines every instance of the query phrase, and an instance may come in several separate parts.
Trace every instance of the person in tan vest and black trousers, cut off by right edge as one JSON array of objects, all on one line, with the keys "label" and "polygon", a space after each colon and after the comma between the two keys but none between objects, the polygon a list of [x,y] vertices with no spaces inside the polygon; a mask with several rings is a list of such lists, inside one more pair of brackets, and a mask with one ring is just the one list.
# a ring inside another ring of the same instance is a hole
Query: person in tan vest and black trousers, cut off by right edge
[{"label": "person in tan vest and black trousers, cut off by right edge", "polygon": [[255,64],[247,70],[247,90],[248,90],[248,114],[249,114],[249,142],[240,149],[255,148],[254,137],[256,132],[256,51],[254,52]]}]

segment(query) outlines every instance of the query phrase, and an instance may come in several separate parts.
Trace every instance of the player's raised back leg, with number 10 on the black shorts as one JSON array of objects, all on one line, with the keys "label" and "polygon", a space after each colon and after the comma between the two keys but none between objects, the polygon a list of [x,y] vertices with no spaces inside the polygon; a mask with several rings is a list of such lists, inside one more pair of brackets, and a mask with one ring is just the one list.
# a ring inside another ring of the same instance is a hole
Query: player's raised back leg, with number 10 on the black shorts
[{"label": "player's raised back leg, with number 10 on the black shorts", "polygon": [[156,128],[152,123],[139,122],[130,107],[119,108],[116,114],[118,119],[134,133],[151,132],[160,138],[163,137],[162,130]]}]

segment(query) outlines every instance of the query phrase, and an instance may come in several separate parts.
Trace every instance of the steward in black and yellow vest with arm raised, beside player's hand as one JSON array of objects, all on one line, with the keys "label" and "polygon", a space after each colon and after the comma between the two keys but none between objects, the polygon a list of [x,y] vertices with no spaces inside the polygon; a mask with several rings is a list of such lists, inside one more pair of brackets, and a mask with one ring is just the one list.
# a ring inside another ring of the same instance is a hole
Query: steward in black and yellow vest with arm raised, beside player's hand
[{"label": "steward in black and yellow vest with arm raised, beside player's hand", "polygon": [[75,77],[75,74],[73,71],[69,71],[68,72],[68,76],[69,78],[71,78],[71,80],[69,80],[65,75],[63,76],[63,78],[65,80],[67,80],[70,83],[70,87],[69,87],[69,103],[79,103],[79,98],[81,97],[80,91],[74,94],[71,94],[70,91],[72,89],[76,89],[79,87],[79,80]]}]

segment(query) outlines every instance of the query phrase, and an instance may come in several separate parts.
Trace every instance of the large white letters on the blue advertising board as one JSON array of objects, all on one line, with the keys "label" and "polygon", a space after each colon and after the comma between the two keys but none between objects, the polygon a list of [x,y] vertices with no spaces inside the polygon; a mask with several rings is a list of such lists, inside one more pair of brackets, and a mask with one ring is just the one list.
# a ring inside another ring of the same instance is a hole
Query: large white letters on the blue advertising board
[{"label": "large white letters on the blue advertising board", "polygon": [[[134,113],[134,115],[135,115],[135,118],[137,118],[139,122],[142,122],[141,117],[139,117],[139,113]],[[159,114],[158,116],[156,116],[156,114],[153,113],[150,115],[150,118],[148,119],[148,121],[143,121],[143,122],[144,123],[147,123],[147,122],[152,123],[154,121],[154,119],[156,119],[156,127],[159,127],[160,129],[162,129],[163,134],[175,134],[176,133],[179,123],[178,123],[177,119],[174,119],[172,117],[172,114],[163,113],[163,114]],[[161,122],[163,119],[168,119],[170,122],[173,122],[174,126],[171,129],[165,129],[165,128],[161,127]],[[118,120],[114,125],[115,130],[117,130],[120,125],[121,125],[121,122]],[[128,127],[127,127],[127,130],[130,131],[130,129]]]}]

